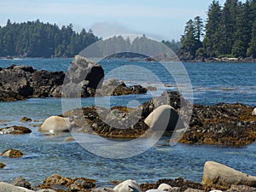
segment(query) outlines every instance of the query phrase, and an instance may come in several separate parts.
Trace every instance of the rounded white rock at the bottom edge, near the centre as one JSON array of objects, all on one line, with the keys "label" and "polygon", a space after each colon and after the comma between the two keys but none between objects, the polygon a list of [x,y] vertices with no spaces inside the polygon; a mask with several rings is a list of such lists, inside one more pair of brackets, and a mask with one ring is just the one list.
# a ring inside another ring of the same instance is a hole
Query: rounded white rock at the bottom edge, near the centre
[{"label": "rounded white rock at the bottom edge, near the centre", "polygon": [[142,192],[140,186],[134,180],[126,180],[113,188],[114,192]]}]

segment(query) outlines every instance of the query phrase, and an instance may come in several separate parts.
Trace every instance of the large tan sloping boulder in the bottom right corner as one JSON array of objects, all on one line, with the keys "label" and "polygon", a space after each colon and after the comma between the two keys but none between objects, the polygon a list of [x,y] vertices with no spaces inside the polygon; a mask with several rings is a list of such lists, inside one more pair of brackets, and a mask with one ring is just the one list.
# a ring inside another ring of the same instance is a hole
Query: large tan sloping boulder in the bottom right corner
[{"label": "large tan sloping boulder in the bottom right corner", "polygon": [[231,185],[238,184],[255,187],[256,177],[214,161],[207,161],[204,166],[202,184],[206,190],[227,190],[230,189]]}]

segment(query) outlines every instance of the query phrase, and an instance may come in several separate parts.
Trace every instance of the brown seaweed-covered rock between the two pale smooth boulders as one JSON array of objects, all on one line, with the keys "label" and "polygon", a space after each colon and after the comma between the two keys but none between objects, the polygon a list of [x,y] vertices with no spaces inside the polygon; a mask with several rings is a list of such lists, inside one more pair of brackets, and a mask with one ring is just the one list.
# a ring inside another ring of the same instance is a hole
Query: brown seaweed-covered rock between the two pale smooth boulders
[{"label": "brown seaweed-covered rock between the two pale smooth boulders", "polygon": [[64,113],[70,119],[73,132],[93,133],[102,137],[140,137],[148,130],[143,119],[139,119],[136,110],[124,107],[77,108]]}]

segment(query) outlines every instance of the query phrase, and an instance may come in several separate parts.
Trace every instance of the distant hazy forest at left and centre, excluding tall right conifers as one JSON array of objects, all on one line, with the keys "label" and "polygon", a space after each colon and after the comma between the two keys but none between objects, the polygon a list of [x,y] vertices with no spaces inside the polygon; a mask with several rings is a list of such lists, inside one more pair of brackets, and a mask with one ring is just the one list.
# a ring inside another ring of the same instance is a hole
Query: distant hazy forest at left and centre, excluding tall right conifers
[{"label": "distant hazy forest at left and centre, excluding tall right conifers", "polygon": [[[40,20],[23,23],[11,23],[0,26],[0,56],[20,57],[73,57],[90,44],[96,43],[101,38],[96,37],[91,30],[75,32],[73,25],[56,26],[43,23]],[[172,40],[162,41],[163,44],[176,51],[180,43]],[[154,55],[160,52],[160,43],[147,38],[145,35],[131,41],[130,38],[113,36],[96,44],[95,56],[119,53],[119,50],[133,50],[137,53]],[[145,50],[147,49],[147,50]],[[132,53],[114,55],[121,57],[136,57]]]}]

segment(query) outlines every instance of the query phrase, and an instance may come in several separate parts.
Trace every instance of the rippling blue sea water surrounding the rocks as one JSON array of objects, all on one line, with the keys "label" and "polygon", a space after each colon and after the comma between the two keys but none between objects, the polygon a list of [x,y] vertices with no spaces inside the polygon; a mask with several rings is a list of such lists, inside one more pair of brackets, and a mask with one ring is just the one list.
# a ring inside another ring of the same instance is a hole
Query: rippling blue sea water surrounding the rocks
[{"label": "rippling blue sea water surrounding the rocks", "polygon": [[[38,70],[67,71],[70,61],[73,59],[0,60],[0,67],[26,64]],[[167,89],[176,90],[174,79],[184,75],[172,63],[166,63],[172,65],[171,75],[165,67],[154,62],[119,60],[102,61],[101,64],[108,78],[124,79],[127,84],[132,84],[136,79],[138,84],[159,88],[142,96],[107,97],[106,101],[110,106],[136,107],[153,96],[159,96],[164,89],[163,85]],[[241,102],[256,106],[256,63],[185,63],[184,67],[193,86],[195,103]],[[94,98],[82,99],[83,106],[95,103]],[[128,178],[139,183],[155,182],[164,177],[184,177],[201,182],[203,166],[207,160],[215,160],[241,172],[256,175],[256,143],[241,148],[185,144],[170,147],[169,138],[166,137],[153,148],[135,157],[124,160],[104,159],[90,154],[78,143],[63,142],[68,134],[45,136],[38,132],[38,127],[34,127],[47,117],[61,113],[59,98],[0,102],[0,127],[25,125],[32,129],[32,134],[24,136],[0,135],[0,152],[7,148],[17,148],[26,154],[18,159],[0,157],[0,162],[7,165],[0,170],[0,180],[10,181],[22,176],[37,184],[50,174],[59,173],[66,177],[95,178],[100,185]],[[23,116],[37,119],[38,122],[20,123]]]}]

